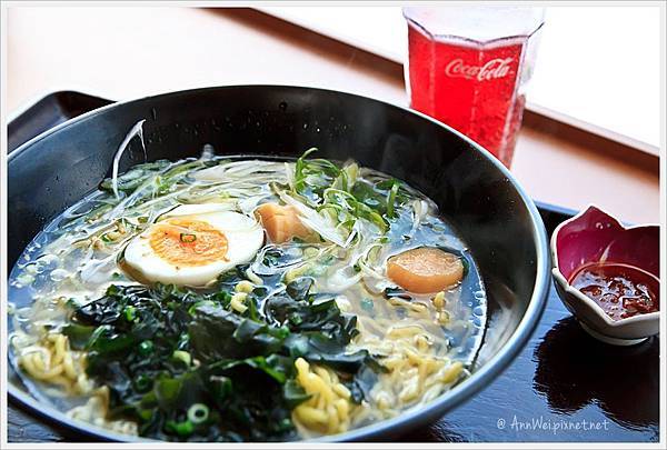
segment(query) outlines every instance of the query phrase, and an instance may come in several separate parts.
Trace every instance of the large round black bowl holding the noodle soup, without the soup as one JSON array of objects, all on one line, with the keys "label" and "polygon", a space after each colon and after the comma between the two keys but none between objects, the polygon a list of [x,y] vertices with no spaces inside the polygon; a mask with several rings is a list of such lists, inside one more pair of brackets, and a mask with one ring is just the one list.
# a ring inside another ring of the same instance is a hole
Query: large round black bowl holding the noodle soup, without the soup
[{"label": "large round black bowl holding the noodle soup, without the soup", "polygon": [[[118,146],[142,119],[149,160],[199,156],[206,143],[218,154],[295,157],[318,147],[320,157],[354,158],[429,196],[468,242],[489,299],[489,326],[472,374],[422,408],[328,440],[387,439],[434,421],[491,382],[538,322],[549,286],[547,238],[535,204],[505,167],[424,114],[310,88],[237,86],[149,97],[100,108],[32,139],[8,159],[9,267],[42,227],[108,174]],[[135,140],[121,169],[143,158]],[[38,403],[16,373],[9,392],[83,433],[128,439]]]}]

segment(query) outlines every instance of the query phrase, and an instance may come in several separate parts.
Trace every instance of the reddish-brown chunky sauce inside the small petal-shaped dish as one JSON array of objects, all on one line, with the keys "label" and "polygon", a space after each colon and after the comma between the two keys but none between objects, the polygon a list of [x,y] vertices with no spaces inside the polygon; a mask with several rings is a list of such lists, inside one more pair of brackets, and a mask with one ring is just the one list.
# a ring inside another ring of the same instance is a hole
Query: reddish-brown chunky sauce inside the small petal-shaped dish
[{"label": "reddish-brown chunky sauce inside the small petal-shaped dish", "polygon": [[569,283],[595,301],[613,320],[659,310],[659,280],[633,266],[586,264],[573,274]]}]

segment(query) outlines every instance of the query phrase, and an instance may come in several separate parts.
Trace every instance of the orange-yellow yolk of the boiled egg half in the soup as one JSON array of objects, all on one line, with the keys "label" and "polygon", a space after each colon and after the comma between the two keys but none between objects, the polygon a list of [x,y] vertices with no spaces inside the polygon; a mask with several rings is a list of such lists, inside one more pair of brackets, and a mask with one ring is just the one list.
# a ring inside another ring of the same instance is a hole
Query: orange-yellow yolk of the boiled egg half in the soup
[{"label": "orange-yellow yolk of the boiled egg half in the soup", "polygon": [[158,257],[181,267],[225,260],[228,249],[225,233],[201,220],[166,220],[155,227],[149,239]]}]

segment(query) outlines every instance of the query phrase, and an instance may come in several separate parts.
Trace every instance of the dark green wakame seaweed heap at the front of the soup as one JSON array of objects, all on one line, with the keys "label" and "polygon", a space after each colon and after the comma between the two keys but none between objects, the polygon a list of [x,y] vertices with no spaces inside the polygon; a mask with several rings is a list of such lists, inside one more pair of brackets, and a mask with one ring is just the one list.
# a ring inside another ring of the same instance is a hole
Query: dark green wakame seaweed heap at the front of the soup
[{"label": "dark green wakame seaweed heap at the front of the soup", "polygon": [[[384,370],[368,352],[346,353],[356,317],[301,278],[267,296],[257,287],[243,313],[229,309],[247,267],[223,273],[218,289],[111,286],[72,312],[63,332],[88,351],[88,374],[110,391],[110,419],[145,437],[177,441],[297,439],[291,410],[308,396],[295,360],[336,370],[360,402]],[[203,420],[192,420],[192,412]]]}]

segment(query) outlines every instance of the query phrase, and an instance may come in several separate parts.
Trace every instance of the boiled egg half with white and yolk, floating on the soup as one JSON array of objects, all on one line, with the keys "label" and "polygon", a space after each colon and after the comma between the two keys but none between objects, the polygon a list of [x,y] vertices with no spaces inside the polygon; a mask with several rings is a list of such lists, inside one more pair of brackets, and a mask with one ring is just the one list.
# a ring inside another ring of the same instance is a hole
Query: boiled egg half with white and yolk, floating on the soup
[{"label": "boiled egg half with white and yolk, floating on the soup", "polygon": [[225,204],[182,204],[130,241],[123,266],[142,282],[205,287],[251,261],[262,244],[253,218]]}]

